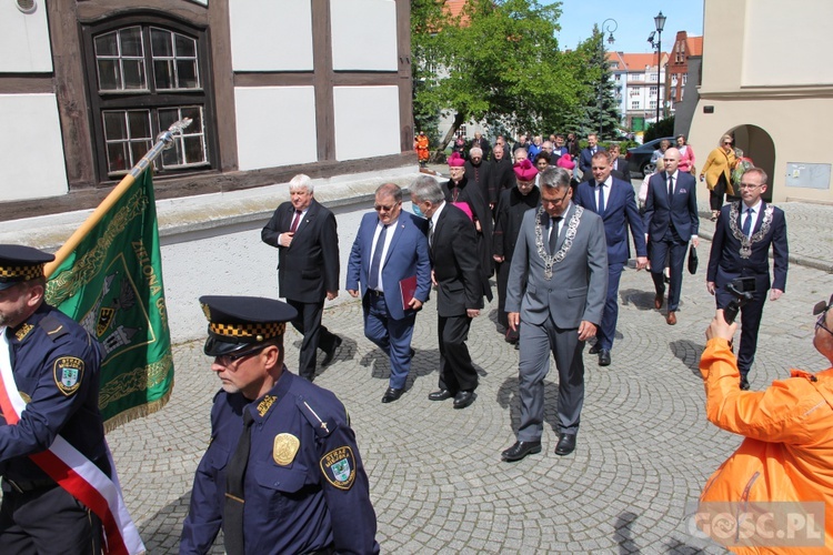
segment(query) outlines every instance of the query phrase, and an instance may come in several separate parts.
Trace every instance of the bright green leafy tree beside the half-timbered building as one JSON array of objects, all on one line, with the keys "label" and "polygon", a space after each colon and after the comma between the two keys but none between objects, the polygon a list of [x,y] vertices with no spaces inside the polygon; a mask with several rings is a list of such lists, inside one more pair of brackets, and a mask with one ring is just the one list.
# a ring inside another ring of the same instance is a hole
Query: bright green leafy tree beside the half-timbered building
[{"label": "bright green leafy tree beside the half-timbered building", "polygon": [[583,84],[558,49],[561,3],[470,0],[458,20],[442,2],[412,0],[414,119],[443,111],[465,121],[546,129],[578,105]]}]

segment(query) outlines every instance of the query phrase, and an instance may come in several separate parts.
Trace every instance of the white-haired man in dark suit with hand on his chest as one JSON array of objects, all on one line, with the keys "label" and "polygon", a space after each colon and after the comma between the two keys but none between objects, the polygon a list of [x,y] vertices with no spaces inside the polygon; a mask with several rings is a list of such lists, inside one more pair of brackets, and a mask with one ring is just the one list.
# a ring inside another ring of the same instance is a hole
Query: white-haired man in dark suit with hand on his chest
[{"label": "white-haired man in dark suit with hand on his chest", "polygon": [[321,325],[324,297],[339,296],[339,233],[335,216],[313,198],[308,175],[300,173],[289,182],[290,201],[282,203],[260,232],[264,243],[278,249],[278,287],[298,312],[292,321],[303,334],[298,373],[315,379],[318,347],[330,364],[341,337]]}]

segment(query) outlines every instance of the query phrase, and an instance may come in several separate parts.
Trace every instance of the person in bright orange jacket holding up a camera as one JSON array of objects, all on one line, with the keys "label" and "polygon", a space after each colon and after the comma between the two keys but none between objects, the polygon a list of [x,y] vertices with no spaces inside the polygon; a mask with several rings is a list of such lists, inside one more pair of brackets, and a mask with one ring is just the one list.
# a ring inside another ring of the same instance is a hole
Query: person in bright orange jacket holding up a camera
[{"label": "person in bright orange jacket holding up a camera", "polygon": [[[833,296],[815,306],[813,346],[833,365]],[[741,391],[723,311],[706,330],[700,361],[706,416],[745,436],[709,478],[697,527],[735,553],[833,549],[833,367],[792,370],[762,392]]]}]

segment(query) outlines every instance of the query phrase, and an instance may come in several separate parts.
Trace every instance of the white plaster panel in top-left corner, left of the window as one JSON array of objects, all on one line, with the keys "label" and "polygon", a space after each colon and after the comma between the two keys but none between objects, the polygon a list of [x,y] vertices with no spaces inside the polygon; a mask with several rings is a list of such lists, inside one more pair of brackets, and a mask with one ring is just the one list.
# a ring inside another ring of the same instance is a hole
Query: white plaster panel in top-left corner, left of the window
[{"label": "white plaster panel in top-left corner, left of the window", "polygon": [[51,72],[52,53],[44,0],[23,13],[12,0],[0,2],[0,73]]}]

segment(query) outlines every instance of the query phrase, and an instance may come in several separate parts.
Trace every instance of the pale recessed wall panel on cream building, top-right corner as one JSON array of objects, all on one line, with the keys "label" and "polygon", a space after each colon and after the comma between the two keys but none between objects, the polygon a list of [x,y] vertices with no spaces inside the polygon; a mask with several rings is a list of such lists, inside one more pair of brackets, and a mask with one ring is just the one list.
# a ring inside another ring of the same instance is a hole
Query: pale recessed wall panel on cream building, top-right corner
[{"label": "pale recessed wall panel on cream building, top-right corner", "polygon": [[[787,8],[789,7],[789,8]],[[775,16],[777,14],[777,16]],[[742,85],[833,83],[833,2],[755,0],[746,4]]]}]

